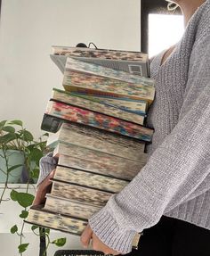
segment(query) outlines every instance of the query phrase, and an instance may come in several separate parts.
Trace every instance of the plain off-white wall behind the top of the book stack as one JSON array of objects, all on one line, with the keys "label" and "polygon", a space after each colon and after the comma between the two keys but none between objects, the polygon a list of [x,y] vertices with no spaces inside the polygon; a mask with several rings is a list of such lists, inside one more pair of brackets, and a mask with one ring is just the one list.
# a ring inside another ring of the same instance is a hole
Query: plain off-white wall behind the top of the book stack
[{"label": "plain off-white wall behind the top of the book stack", "polygon": [[62,75],[51,45],[93,42],[140,50],[140,0],[3,0],[0,22],[0,120],[23,120],[36,136],[52,87]]}]

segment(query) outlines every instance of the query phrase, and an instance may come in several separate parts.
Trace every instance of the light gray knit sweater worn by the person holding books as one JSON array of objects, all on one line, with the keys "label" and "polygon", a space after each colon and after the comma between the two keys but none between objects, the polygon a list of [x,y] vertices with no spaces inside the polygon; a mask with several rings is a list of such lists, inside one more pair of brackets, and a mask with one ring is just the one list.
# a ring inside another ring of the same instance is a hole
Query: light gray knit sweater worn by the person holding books
[{"label": "light gray knit sweater worn by the person holding books", "polygon": [[160,66],[162,56],[150,67],[156,99],[148,118],[155,129],[149,161],[89,220],[118,252],[130,252],[133,235],[162,215],[210,229],[210,0]]}]

